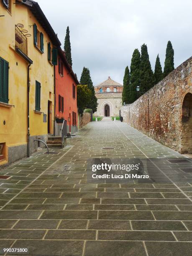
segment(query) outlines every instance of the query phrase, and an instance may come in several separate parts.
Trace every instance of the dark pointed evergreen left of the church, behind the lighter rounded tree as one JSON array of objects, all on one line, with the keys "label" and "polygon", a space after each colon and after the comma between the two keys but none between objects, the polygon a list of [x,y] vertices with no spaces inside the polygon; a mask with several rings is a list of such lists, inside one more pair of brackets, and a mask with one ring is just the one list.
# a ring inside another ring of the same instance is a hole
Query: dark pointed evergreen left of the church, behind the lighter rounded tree
[{"label": "dark pointed evergreen left of the church, behind the lighter rounded tree", "polygon": [[91,95],[91,100],[90,103],[87,105],[87,108],[91,108],[93,113],[97,111],[97,97],[95,96],[95,89],[92,83],[92,79],[90,76],[90,71],[87,68],[83,68],[82,74],[81,74],[81,79],[80,79],[80,84],[85,85],[87,84],[88,88],[91,90],[92,95]]}]

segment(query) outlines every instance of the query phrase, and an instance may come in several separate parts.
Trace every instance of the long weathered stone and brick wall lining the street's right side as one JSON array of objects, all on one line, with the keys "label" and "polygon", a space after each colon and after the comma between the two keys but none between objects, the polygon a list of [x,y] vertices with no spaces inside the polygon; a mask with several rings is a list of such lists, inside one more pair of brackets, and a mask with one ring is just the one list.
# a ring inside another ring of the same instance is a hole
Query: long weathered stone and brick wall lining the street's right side
[{"label": "long weathered stone and brick wall lining the street's right side", "polygon": [[192,57],[147,94],[121,107],[123,122],[175,151],[192,154]]}]

